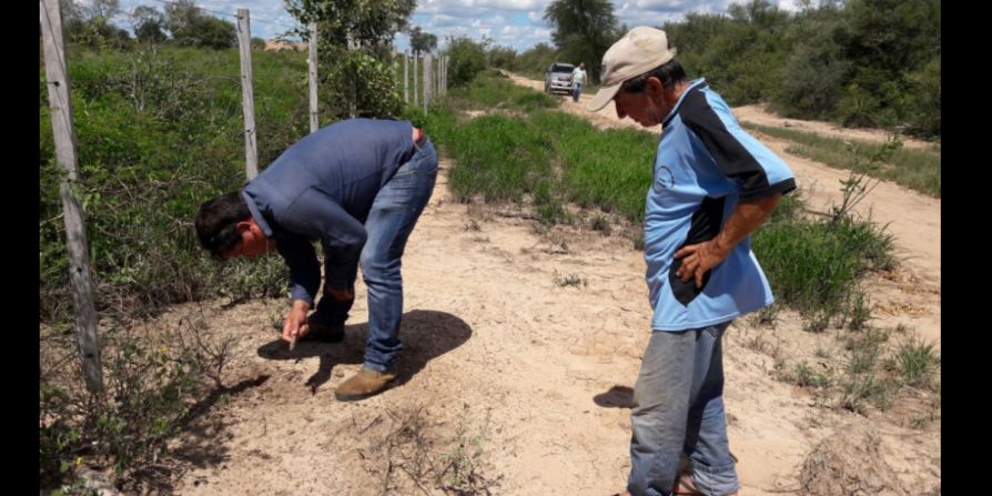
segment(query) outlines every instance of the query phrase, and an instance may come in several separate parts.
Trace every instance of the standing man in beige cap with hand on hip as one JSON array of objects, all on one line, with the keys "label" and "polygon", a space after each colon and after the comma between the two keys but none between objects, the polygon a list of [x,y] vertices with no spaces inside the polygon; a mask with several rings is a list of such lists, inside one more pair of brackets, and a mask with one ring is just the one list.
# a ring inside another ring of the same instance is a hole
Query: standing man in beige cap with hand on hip
[{"label": "standing man in beige cap with hand on hip", "polygon": [[[620,119],[662,125],[645,214],[655,310],[634,388],[632,495],[736,495],[727,439],[721,340],[730,322],[773,302],[750,249],[782,194],[789,166],[746,133],[703,79],[688,81],[665,31],[634,28],[603,55],[603,85]],[[679,458],[691,477],[679,477]]]}]

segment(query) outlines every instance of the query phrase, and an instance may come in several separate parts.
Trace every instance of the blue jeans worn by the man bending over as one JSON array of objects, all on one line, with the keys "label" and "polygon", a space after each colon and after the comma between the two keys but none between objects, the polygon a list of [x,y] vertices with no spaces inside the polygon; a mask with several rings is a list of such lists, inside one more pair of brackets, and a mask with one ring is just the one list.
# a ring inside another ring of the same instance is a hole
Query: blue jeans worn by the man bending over
[{"label": "blue jeans worn by the man bending over", "polygon": [[[437,152],[427,140],[417,146],[408,162],[376,194],[365,221],[368,237],[362,249],[360,264],[368,290],[368,340],[365,344],[366,368],[391,370],[403,350],[399,323],[403,318],[403,279],[399,273],[403,250],[421,213],[434,192],[437,180]],[[325,267],[326,271],[326,267]],[[350,273],[354,292],[357,266]],[[335,300],[324,285],[314,318],[328,324],[343,324],[354,300]]]}]

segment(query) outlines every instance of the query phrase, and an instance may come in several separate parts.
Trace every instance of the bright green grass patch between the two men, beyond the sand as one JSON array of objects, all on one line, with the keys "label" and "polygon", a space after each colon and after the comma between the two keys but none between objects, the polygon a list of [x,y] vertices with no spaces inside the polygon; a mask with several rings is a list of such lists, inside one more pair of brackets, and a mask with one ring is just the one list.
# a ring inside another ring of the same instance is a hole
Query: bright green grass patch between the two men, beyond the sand
[{"label": "bright green grass patch between the two men, beyond the sand", "polygon": [[[549,222],[564,220],[566,201],[641,221],[657,136],[599,131],[548,110],[557,104],[554,97],[492,75],[451,91],[425,125],[458,164],[451,176],[456,195],[487,202],[529,198]],[[477,112],[486,114],[467,117]]]}]

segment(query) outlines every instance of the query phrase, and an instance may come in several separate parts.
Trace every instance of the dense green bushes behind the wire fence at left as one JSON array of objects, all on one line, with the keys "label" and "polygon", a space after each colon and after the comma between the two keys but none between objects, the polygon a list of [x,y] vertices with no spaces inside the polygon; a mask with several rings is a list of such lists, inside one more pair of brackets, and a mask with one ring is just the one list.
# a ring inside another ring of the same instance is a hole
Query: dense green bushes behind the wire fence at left
[{"label": "dense green bushes behind the wire fence at left", "polygon": [[[201,202],[244,182],[237,53],[70,54],[73,103],[84,110],[74,115],[75,190],[87,215],[98,311],[141,317],[190,300],[284,294],[285,267],[277,257],[216,264],[192,229]],[[306,70],[302,57],[257,55],[255,110],[264,166],[308,131]],[[216,75],[224,73],[231,75]],[[53,322],[68,315],[70,298],[62,171],[48,112],[42,103],[39,276],[40,317]]]}]

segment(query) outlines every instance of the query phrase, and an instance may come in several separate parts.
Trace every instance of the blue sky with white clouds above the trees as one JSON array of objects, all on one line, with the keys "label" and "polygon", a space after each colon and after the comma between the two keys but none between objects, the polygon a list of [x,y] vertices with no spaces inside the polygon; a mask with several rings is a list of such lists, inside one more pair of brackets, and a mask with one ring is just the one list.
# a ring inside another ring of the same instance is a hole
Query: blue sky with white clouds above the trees
[{"label": "blue sky with white clouds above the trees", "polygon": [[[738,0],[737,2],[743,2]],[[163,10],[168,0],[120,0],[121,10],[130,12],[138,6],[154,6]],[[688,12],[726,12],[731,0],[613,0],[614,13],[620,24],[661,26],[681,20]],[[82,3],[85,3],[83,1]],[[437,37],[443,48],[446,37],[467,36],[475,40],[488,38],[493,43],[523,52],[537,43],[551,41],[551,29],[543,17],[550,0],[417,0],[412,26]],[[771,0],[779,8],[794,11],[796,0]],[[251,12],[252,37],[272,39],[295,26],[283,0],[198,0],[206,13],[234,21],[237,9]],[[117,23],[130,28],[125,16]],[[409,48],[409,39],[397,34],[397,50]]]}]

